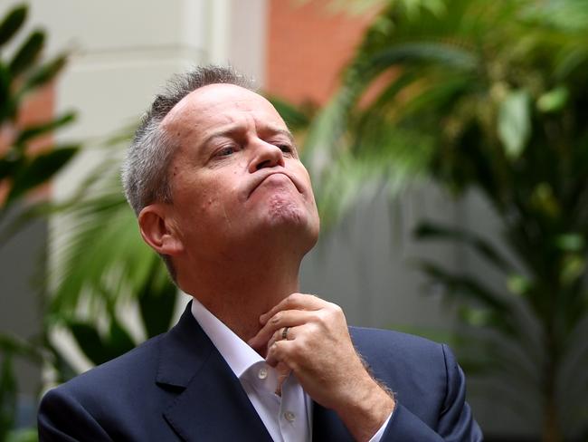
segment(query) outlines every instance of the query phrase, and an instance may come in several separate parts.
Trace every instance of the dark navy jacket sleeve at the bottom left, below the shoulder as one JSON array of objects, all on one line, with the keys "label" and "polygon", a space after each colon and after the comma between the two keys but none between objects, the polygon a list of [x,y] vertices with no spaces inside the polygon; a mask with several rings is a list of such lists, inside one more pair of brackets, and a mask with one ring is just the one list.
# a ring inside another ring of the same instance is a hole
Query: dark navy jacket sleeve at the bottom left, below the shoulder
[{"label": "dark navy jacket sleeve at the bottom left, below the shoulder", "polygon": [[43,397],[38,428],[40,442],[112,440],[88,410],[62,389],[52,389]]}]

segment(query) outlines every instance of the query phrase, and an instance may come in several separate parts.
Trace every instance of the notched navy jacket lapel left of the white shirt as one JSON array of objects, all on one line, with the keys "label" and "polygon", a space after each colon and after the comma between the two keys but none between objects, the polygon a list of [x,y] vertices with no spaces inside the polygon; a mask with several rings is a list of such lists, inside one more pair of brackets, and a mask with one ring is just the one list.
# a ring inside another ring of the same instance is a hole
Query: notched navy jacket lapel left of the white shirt
[{"label": "notched navy jacket lapel left of the white shirt", "polygon": [[194,320],[190,303],[162,339],[159,354],[157,384],[179,391],[164,412],[179,437],[186,441],[271,440],[241,383]]}]

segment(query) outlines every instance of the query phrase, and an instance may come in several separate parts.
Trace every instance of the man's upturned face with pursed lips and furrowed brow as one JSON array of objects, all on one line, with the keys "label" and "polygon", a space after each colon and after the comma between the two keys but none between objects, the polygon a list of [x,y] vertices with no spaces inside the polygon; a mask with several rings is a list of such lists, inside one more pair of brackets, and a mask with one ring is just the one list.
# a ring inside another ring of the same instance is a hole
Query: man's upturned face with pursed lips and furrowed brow
[{"label": "man's upturned face with pursed lips and furrowed brow", "polygon": [[259,250],[276,239],[304,255],[316,243],[308,172],[269,101],[213,84],[187,95],[162,126],[178,146],[172,213],[188,256],[230,258],[243,245]]}]

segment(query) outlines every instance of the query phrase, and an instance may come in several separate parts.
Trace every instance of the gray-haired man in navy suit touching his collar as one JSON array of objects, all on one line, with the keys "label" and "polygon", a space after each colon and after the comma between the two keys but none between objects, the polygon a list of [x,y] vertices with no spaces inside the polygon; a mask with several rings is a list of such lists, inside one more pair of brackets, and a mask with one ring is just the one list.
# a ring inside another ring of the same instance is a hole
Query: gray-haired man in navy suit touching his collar
[{"label": "gray-haired man in navy suit touching his collar", "polygon": [[447,347],[348,329],[299,293],[310,179],[241,75],[175,78],[123,175],[143,239],[194,300],[171,331],[47,393],[41,440],[481,439]]}]

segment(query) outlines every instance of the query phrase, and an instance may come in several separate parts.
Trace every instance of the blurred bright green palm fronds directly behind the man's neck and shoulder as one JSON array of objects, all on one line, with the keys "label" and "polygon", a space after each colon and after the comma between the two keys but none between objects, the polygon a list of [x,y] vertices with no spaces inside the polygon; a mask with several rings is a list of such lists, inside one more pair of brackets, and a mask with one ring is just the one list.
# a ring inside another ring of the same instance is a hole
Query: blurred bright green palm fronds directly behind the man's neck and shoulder
[{"label": "blurred bright green palm fronds directly behind the man's neck and shoulder", "polygon": [[[169,330],[175,319],[177,288],[138,235],[120,183],[121,144],[128,145],[134,130],[95,146],[103,160],[73,196],[52,207],[59,227],[50,248],[58,264],[47,288],[45,328],[69,333],[93,365]],[[138,313],[138,329],[129,325],[130,311]],[[52,349],[57,382],[78,374]]]}]

